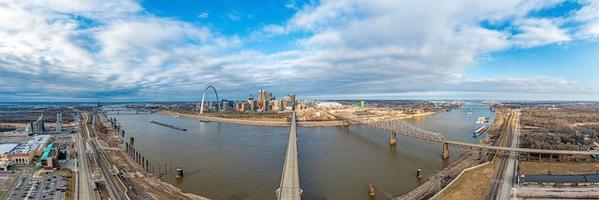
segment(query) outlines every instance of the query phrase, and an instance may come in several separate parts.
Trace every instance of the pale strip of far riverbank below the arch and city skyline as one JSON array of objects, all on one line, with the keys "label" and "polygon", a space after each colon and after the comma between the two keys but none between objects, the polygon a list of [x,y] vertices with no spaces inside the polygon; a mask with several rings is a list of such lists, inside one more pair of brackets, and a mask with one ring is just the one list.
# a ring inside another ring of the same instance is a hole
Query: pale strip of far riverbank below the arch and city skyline
[{"label": "pale strip of far riverbank below the arch and city skyline", "polygon": [[[232,118],[223,118],[223,117],[212,117],[212,116],[202,116],[196,114],[186,114],[174,111],[160,111],[161,114],[167,115],[175,115],[182,116],[192,119],[198,119],[202,121],[209,122],[222,122],[222,123],[231,123],[231,124],[241,124],[241,125],[251,125],[251,126],[271,126],[271,127],[286,127],[289,126],[289,122],[287,121],[275,121],[275,120],[246,120],[246,119],[232,119]],[[331,121],[298,121],[298,126],[301,127],[331,127],[331,126],[345,126],[344,121],[342,120],[331,120]]]}]

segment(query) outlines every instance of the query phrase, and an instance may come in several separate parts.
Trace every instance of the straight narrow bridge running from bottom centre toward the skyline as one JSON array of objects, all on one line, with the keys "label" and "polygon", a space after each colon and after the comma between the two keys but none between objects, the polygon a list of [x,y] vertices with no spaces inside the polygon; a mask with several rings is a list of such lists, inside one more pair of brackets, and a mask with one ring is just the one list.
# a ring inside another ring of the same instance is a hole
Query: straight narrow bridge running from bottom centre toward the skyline
[{"label": "straight narrow bridge running from bottom centre toward the skyline", "polygon": [[285,153],[283,173],[281,173],[281,184],[277,188],[278,200],[299,200],[302,189],[299,184],[299,165],[297,151],[297,128],[295,112],[291,115],[291,127],[289,128],[289,143]]}]

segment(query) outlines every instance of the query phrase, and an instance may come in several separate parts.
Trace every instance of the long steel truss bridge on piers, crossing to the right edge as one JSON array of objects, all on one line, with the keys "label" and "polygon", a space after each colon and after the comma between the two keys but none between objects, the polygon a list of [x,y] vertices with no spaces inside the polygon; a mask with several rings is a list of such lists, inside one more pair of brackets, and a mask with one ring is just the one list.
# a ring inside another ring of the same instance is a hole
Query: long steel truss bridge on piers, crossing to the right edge
[{"label": "long steel truss bridge on piers, crossing to the right edge", "polygon": [[443,134],[425,130],[419,128],[413,124],[405,122],[403,120],[387,120],[387,121],[373,121],[369,119],[360,119],[352,113],[331,113],[339,119],[352,121],[358,124],[364,124],[373,128],[380,128],[389,133],[389,144],[397,144],[397,135],[403,135],[410,138],[442,143],[443,152],[441,157],[443,159],[449,158],[449,146],[463,148],[463,149],[474,149],[479,151],[493,151],[497,153],[537,153],[537,154],[555,154],[555,155],[599,155],[599,151],[571,151],[571,150],[549,150],[549,149],[530,149],[530,148],[519,148],[519,147],[501,147],[485,144],[474,144],[468,142],[453,141],[447,139]]}]

